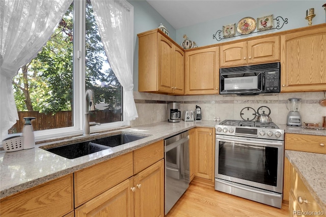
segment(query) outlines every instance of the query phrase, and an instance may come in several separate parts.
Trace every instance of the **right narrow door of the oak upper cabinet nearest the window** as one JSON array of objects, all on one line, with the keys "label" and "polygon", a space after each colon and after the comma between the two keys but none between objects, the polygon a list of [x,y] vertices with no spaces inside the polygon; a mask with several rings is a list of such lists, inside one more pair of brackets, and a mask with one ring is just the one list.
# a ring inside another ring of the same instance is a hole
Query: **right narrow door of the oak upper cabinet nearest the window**
[{"label": "right narrow door of the oak upper cabinet nearest the window", "polygon": [[184,52],[173,46],[173,93],[184,94]]}]

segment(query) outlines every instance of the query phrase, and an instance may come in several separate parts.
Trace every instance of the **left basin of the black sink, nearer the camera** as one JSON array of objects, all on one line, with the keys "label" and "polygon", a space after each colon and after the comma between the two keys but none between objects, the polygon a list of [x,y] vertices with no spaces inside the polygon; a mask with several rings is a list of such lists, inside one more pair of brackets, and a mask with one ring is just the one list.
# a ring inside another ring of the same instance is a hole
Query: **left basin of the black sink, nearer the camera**
[{"label": "left basin of the black sink, nearer the camera", "polygon": [[45,150],[52,152],[54,154],[58,154],[62,157],[66,157],[68,159],[74,159],[77,157],[82,157],[88,154],[102,151],[108,148],[110,147],[95,144],[92,142],[83,142],[83,143],[76,143],[70,145],[63,145],[55,148],[48,148]]}]

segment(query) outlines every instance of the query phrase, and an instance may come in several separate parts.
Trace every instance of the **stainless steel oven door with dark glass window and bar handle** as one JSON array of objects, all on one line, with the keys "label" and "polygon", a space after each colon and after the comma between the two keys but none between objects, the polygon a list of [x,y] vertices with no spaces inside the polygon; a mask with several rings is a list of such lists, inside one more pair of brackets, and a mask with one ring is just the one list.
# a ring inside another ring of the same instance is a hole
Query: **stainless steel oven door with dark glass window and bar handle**
[{"label": "stainless steel oven door with dark glass window and bar handle", "polygon": [[284,141],[216,135],[215,178],[283,191]]}]

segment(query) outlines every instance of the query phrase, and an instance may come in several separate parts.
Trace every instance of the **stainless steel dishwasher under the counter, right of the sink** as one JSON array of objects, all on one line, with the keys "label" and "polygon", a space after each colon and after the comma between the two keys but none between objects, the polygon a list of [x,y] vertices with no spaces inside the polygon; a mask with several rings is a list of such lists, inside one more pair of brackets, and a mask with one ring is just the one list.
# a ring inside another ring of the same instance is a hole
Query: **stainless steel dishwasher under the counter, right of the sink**
[{"label": "stainless steel dishwasher under the counter, right of the sink", "polygon": [[181,132],[164,140],[165,214],[189,186],[189,133]]}]

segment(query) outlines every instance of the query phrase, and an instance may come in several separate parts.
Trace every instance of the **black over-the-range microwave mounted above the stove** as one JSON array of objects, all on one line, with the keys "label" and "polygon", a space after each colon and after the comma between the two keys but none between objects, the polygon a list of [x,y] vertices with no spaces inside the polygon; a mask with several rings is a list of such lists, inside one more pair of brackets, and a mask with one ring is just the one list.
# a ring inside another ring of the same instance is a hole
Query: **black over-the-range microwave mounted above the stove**
[{"label": "black over-the-range microwave mounted above the stove", "polygon": [[268,63],[220,69],[220,94],[280,93],[281,64]]}]

